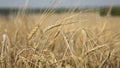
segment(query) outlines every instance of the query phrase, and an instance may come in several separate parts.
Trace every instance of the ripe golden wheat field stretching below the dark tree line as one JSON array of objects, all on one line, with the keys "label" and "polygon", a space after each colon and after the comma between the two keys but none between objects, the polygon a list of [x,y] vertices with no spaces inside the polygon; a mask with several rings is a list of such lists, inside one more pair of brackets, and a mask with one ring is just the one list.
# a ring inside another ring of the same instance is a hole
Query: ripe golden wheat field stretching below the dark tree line
[{"label": "ripe golden wheat field stretching below the dark tree line", "polygon": [[119,18],[98,12],[0,16],[0,68],[120,68]]}]

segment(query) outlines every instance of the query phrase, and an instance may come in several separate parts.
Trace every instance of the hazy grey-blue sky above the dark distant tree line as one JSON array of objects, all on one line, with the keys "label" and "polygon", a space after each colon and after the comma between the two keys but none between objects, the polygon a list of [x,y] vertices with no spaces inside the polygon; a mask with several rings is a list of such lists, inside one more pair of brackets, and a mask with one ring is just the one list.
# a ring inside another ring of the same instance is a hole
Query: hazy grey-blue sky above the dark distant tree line
[{"label": "hazy grey-blue sky above the dark distant tree line", "polygon": [[0,0],[0,8],[100,7],[120,6],[120,0]]}]

